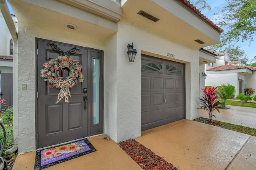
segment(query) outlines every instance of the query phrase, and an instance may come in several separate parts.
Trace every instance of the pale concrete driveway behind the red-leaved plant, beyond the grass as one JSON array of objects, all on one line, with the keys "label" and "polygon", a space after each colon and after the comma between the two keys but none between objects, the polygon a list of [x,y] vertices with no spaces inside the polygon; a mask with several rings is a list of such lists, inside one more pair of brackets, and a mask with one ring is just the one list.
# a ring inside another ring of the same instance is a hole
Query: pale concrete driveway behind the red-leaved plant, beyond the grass
[{"label": "pale concrete driveway behind the red-leaved plant, beyond the grass", "polygon": [[[256,108],[240,106],[228,107],[230,107],[230,109],[220,109],[220,113],[214,111],[213,114],[216,118],[212,117],[212,119],[235,125],[242,125],[244,127],[256,128]],[[200,109],[200,117],[208,118],[209,115],[206,111]]]}]

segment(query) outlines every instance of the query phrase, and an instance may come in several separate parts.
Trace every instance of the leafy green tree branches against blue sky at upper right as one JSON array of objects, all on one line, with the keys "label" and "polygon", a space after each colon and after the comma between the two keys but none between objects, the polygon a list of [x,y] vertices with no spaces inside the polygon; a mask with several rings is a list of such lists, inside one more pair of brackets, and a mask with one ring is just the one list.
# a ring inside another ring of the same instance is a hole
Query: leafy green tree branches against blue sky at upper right
[{"label": "leafy green tree branches against blue sky at upper right", "polygon": [[224,41],[238,42],[249,40],[253,42],[256,33],[256,1],[255,0],[225,0],[226,6],[220,10],[223,17],[218,23],[227,28]]}]

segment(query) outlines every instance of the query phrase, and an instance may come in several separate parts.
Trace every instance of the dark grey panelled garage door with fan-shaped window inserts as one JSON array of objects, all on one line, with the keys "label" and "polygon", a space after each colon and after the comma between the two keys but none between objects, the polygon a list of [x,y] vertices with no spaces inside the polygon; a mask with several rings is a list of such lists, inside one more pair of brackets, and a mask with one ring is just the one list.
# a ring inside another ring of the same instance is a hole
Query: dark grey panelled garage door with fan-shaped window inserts
[{"label": "dark grey panelled garage door with fan-shaped window inserts", "polygon": [[142,55],[141,130],[185,119],[185,65]]}]

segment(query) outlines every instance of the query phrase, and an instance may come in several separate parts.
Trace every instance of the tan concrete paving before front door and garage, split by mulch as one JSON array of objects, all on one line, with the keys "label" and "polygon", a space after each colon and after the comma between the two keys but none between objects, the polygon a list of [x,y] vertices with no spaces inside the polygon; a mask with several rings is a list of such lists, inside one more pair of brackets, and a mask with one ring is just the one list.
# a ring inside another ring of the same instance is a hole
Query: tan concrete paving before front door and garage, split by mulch
[{"label": "tan concrete paving before front door and garage, split by mulch", "polygon": [[[96,152],[63,162],[46,170],[139,170],[114,141],[88,138]],[[145,130],[138,142],[180,170],[255,170],[256,137],[248,134],[181,120]],[[35,152],[19,155],[12,170],[33,170]]]}]

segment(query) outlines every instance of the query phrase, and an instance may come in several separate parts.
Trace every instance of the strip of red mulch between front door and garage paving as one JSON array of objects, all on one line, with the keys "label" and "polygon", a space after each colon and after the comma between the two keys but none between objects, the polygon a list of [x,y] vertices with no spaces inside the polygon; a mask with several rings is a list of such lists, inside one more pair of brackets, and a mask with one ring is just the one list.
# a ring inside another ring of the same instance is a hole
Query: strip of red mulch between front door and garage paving
[{"label": "strip of red mulch between front door and garage paving", "polygon": [[142,169],[145,170],[178,170],[152,150],[135,139],[126,140],[119,145]]}]

